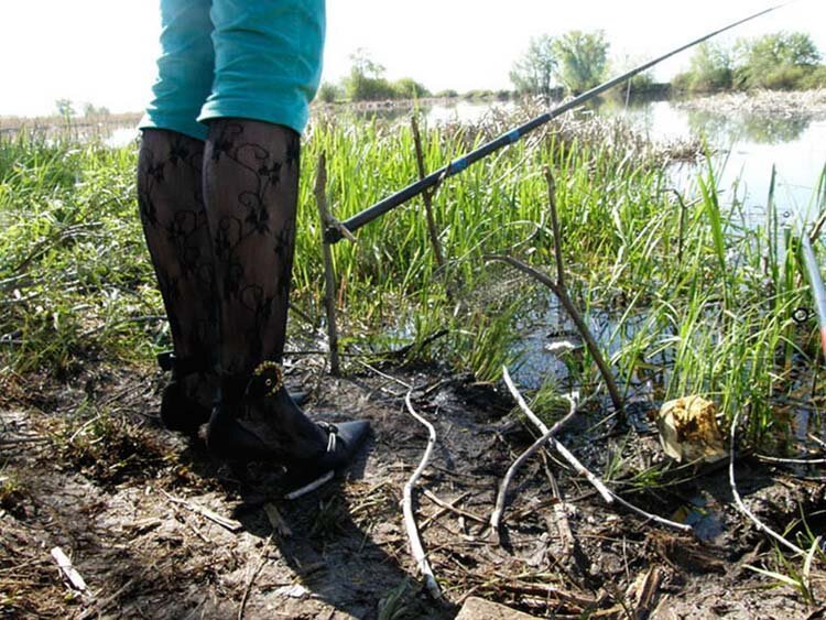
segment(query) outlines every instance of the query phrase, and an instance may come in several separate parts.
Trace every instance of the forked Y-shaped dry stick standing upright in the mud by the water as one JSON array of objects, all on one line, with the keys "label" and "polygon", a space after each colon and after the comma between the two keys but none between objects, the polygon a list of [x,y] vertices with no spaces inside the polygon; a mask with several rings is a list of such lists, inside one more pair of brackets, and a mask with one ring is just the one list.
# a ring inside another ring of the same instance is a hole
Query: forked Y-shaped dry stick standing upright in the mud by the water
[{"label": "forked Y-shaped dry stick standing upright in the mud by the water", "polygon": [[622,398],[620,396],[620,392],[617,389],[617,384],[613,382],[613,376],[611,374],[611,370],[610,368],[608,368],[608,365],[602,358],[602,353],[600,352],[599,347],[597,346],[597,341],[594,339],[594,336],[591,335],[590,329],[588,329],[588,326],[585,324],[585,320],[583,320],[583,317],[579,314],[579,311],[576,309],[574,302],[570,301],[570,297],[568,296],[567,287],[565,286],[565,267],[562,261],[562,238],[559,236],[559,221],[558,221],[558,218],[556,217],[555,184],[554,184],[553,174],[551,174],[551,168],[548,168],[547,166],[545,166],[545,178],[547,181],[548,206],[551,208],[551,224],[553,226],[553,231],[554,231],[554,254],[556,258],[556,282],[554,282],[551,278],[548,278],[546,274],[542,273],[541,271],[537,271],[534,268],[512,257],[486,255],[485,258],[488,260],[506,262],[510,264],[511,267],[517,268],[519,271],[526,273],[531,278],[537,280],[539,282],[547,286],[548,289],[551,289],[551,291],[554,293],[554,295],[556,295],[556,298],[559,300],[559,303],[563,305],[565,311],[568,313],[568,315],[573,319],[574,325],[576,325],[577,331],[579,331],[579,335],[583,337],[583,340],[585,340],[585,345],[588,347],[588,351],[594,358],[594,361],[597,365],[597,368],[599,369],[599,373],[602,376],[602,380],[605,381],[606,388],[608,388],[608,393],[611,396],[613,409],[616,409],[617,412],[621,413],[622,412]]}]

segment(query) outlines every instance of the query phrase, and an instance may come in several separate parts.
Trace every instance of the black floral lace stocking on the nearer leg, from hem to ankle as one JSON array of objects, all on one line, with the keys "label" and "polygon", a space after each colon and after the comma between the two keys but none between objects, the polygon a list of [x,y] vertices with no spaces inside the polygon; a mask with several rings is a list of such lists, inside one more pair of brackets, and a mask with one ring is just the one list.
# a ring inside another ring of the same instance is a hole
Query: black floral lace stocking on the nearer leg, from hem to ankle
[{"label": "black floral lace stocking on the nearer leg, from hem to ankle", "polygon": [[204,195],[213,231],[222,374],[280,360],[295,238],[298,134],[244,119],[209,123]]}]

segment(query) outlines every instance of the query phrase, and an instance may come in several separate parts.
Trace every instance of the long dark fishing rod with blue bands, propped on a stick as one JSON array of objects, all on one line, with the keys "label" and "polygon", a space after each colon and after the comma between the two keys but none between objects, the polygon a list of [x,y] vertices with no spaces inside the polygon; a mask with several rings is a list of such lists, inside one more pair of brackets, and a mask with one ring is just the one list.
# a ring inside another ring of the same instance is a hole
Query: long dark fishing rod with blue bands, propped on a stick
[{"label": "long dark fishing rod with blue bands, propped on a stick", "polygon": [[324,240],[327,243],[336,243],[340,241],[344,238],[344,233],[341,231],[341,228],[346,228],[349,232],[356,232],[359,228],[365,226],[366,224],[371,222],[377,217],[384,215],[390,209],[398,207],[399,205],[406,203],[411,198],[417,196],[425,189],[428,189],[433,187],[434,185],[437,185],[442,183],[445,178],[453,176],[455,174],[460,173],[463,170],[465,170],[467,166],[469,166],[472,163],[478,162],[482,157],[489,155],[490,153],[493,153],[494,151],[498,151],[499,149],[503,146],[508,146],[509,144],[513,144],[518,140],[520,140],[523,135],[526,133],[533,131],[537,127],[541,127],[548,122],[550,120],[555,119],[556,117],[567,112],[568,110],[576,108],[577,106],[582,106],[586,101],[593,99],[597,95],[600,95],[608,90],[609,88],[612,88],[617,86],[618,84],[621,84],[622,81],[635,76],[639,73],[642,73],[657,63],[663,62],[666,58],[670,58],[671,56],[678,54],[680,52],[683,52],[684,50],[687,50],[689,47],[693,47],[694,45],[697,45],[698,43],[703,43],[704,41],[711,39],[713,36],[716,36],[717,34],[720,34],[721,32],[726,32],[727,30],[730,30],[735,26],[738,26],[742,23],[746,23],[750,20],[753,20],[754,18],[759,18],[760,15],[764,15],[767,13],[770,13],[776,9],[780,9],[781,7],[784,7],[785,4],[789,4],[790,2],[783,2],[781,4],[776,4],[774,7],[771,7],[769,9],[764,9],[760,11],[759,13],[754,13],[753,15],[749,15],[748,18],[738,20],[733,23],[730,23],[719,30],[715,30],[714,32],[706,34],[705,36],[700,36],[699,39],[696,39],[692,41],[691,43],[686,43],[685,45],[682,45],[681,47],[677,47],[676,50],[673,50],[669,52],[667,54],[663,54],[662,56],[659,56],[654,58],[653,61],[649,61],[648,63],[644,63],[638,67],[632,68],[629,72],[623,73],[622,75],[619,75],[612,79],[609,79],[608,81],[600,84],[599,86],[595,86],[590,90],[586,90],[578,97],[575,97],[570,101],[567,101],[566,104],[563,104],[562,106],[554,108],[553,110],[545,112],[544,115],[541,115],[533,120],[528,121],[524,124],[521,124],[520,127],[501,134],[499,138],[496,138],[491,140],[490,142],[487,142],[476,149],[475,151],[471,151],[470,153],[452,161],[446,166],[441,167],[436,172],[431,173],[430,175],[425,176],[424,178],[411,183],[405,188],[396,192],[392,196],[389,196],[384,198],[383,200],[380,200],[376,203],[373,206],[366,208],[365,210],[356,214],[351,218],[339,222],[339,227],[330,226],[324,231]]}]

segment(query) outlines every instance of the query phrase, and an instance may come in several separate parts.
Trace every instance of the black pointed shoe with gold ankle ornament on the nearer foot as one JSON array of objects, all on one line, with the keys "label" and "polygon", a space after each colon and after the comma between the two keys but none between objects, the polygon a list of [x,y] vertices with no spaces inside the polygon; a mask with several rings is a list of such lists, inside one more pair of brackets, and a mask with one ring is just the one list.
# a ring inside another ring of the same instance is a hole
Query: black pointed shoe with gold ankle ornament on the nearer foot
[{"label": "black pointed shoe with gold ankle ornament on the nearer foot", "polygon": [[290,398],[275,362],[251,377],[221,381],[220,398],[207,426],[207,446],[232,461],[274,460],[291,488],[344,469],[367,438],[366,421],[311,421]]}]

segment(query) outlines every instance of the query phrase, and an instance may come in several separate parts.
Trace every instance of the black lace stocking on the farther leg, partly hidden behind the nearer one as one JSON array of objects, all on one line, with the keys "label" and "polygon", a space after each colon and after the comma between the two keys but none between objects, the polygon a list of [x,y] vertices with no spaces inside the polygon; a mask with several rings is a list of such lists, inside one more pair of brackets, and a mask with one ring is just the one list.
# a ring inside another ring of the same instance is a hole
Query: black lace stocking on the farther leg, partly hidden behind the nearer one
[{"label": "black lace stocking on the farther leg, partly hidden behind the nearer one", "polygon": [[209,362],[218,342],[213,251],[202,194],[204,143],[143,131],[138,204],[178,358]]}]

